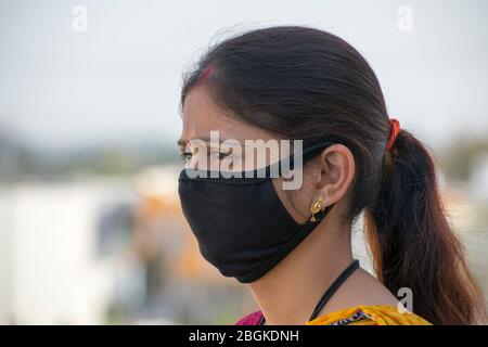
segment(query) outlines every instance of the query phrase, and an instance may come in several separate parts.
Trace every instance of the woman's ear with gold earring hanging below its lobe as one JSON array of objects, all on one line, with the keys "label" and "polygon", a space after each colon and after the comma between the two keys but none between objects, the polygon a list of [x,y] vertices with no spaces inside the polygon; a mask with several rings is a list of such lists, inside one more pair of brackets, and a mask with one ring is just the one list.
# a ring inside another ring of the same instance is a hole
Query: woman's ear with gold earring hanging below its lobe
[{"label": "woman's ear with gold earring hanging below its lobe", "polygon": [[337,203],[348,192],[355,178],[355,157],[344,144],[333,144],[323,150],[318,165],[317,190],[325,207]]}]

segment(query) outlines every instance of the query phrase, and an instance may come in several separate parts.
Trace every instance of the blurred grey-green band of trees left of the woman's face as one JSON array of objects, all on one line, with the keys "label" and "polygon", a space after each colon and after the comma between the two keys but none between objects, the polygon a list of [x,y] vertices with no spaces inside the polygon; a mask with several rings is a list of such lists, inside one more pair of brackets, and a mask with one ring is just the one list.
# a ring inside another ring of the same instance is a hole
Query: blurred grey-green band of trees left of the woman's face
[{"label": "blurred grey-green band of trees left of the woman's face", "polygon": [[124,176],[151,165],[178,163],[176,145],[106,144],[78,149],[35,149],[0,132],[0,181],[63,180],[77,175]]}]

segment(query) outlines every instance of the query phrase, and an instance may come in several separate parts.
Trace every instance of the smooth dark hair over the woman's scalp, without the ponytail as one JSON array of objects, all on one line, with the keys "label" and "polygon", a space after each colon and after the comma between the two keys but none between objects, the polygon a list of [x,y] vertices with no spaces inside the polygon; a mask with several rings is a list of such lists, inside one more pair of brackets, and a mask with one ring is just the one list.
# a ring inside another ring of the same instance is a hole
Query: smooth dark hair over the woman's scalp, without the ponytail
[{"label": "smooth dark hair over the woman's scalp, without the ponytail", "polygon": [[[304,147],[334,141],[356,160],[349,217],[374,203],[388,116],[378,81],[344,40],[312,28],[273,27],[211,49],[183,86],[196,86],[240,123]],[[307,171],[305,172],[307,174]]]}]

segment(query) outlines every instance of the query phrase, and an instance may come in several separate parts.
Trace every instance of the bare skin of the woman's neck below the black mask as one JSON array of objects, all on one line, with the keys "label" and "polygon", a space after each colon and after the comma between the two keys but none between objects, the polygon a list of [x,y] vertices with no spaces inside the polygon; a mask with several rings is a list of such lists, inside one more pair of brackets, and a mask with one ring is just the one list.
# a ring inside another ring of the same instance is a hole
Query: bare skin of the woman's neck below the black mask
[{"label": "bare skin of the woman's neck below the black mask", "polygon": [[275,268],[249,284],[267,324],[304,324],[352,261],[351,226],[332,224],[336,219],[325,218]]}]

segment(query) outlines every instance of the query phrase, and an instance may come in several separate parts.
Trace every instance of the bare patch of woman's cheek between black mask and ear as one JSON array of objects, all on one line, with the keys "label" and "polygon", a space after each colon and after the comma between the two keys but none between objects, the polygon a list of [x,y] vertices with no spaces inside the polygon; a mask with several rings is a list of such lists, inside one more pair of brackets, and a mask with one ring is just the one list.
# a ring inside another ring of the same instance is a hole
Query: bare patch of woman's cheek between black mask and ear
[{"label": "bare patch of woman's cheek between black mask and ear", "polygon": [[305,223],[310,215],[309,207],[312,196],[312,191],[309,187],[310,184],[307,184],[309,180],[306,180],[304,177],[304,182],[297,190],[283,190],[282,178],[275,178],[272,182],[278,196],[288,214],[296,222],[300,224]]}]

